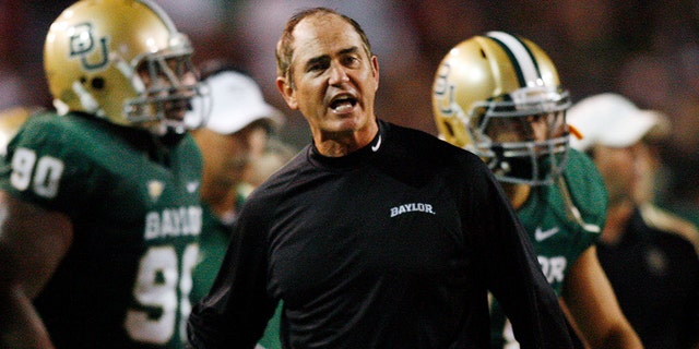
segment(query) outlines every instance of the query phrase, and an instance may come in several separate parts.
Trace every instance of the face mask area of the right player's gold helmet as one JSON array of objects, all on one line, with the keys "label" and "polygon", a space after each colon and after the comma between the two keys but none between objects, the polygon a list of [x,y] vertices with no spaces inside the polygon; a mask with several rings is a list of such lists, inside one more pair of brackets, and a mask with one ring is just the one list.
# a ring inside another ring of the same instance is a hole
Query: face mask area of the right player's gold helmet
[{"label": "face mask area of the right player's gold helmet", "polygon": [[[513,101],[517,98],[511,97],[518,94],[526,97]],[[466,148],[481,156],[501,182],[553,184],[568,158],[565,110],[569,107],[566,91],[543,87],[523,87],[510,95],[475,103],[469,111],[469,120],[474,122],[466,127],[473,143]],[[543,120],[544,140],[534,137],[531,130],[534,120]]]}]

